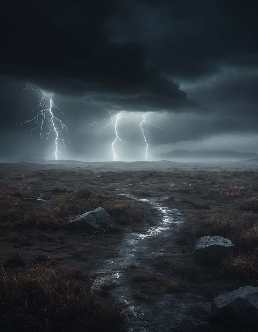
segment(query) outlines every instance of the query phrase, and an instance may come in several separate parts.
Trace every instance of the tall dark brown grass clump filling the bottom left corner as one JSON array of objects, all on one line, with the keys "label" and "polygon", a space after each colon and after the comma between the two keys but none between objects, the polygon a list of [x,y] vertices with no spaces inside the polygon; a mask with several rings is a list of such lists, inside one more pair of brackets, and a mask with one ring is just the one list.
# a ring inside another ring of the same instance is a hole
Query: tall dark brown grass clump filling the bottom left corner
[{"label": "tall dark brown grass clump filling the bottom left corner", "polygon": [[113,300],[40,265],[17,271],[0,264],[0,283],[2,331],[103,332],[126,319]]}]

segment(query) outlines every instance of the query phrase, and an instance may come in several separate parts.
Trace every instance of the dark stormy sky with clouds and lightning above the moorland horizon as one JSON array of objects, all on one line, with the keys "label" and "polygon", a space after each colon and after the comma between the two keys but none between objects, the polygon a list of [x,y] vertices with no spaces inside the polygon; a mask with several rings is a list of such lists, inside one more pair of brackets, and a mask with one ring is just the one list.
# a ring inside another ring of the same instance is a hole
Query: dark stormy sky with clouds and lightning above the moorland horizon
[{"label": "dark stormy sky with clouds and lightning above the moorland horizon", "polygon": [[147,144],[147,160],[174,149],[258,153],[254,0],[0,9],[0,161],[55,159],[56,143],[57,159],[83,161],[146,160]]}]

